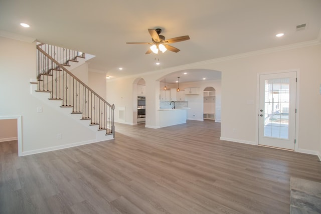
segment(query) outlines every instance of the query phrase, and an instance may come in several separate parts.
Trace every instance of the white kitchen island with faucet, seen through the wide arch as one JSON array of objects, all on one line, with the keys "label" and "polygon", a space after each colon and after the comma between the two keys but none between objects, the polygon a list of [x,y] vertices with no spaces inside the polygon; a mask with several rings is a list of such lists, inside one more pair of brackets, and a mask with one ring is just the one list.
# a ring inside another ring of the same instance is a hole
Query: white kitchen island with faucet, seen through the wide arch
[{"label": "white kitchen island with faucet, seen through the wide arch", "polygon": [[159,127],[173,126],[186,123],[187,111],[190,108],[159,109]]}]

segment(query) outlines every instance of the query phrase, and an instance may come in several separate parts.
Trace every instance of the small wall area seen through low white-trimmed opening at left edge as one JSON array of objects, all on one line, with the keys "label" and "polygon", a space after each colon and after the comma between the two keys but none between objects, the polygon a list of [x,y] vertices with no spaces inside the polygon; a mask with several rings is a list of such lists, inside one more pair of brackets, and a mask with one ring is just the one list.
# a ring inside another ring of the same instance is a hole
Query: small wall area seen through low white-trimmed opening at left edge
[{"label": "small wall area seen through low white-trimmed opening at left edge", "polygon": [[18,139],[17,123],[17,119],[0,119],[0,142]]}]

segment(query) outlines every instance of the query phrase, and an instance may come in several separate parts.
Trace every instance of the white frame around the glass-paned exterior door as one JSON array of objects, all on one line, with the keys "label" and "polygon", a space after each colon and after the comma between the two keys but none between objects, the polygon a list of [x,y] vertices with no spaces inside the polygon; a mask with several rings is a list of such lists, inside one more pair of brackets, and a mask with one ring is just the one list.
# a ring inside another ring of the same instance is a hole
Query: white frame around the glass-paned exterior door
[{"label": "white frame around the glass-paned exterior door", "polygon": [[[259,97],[260,97],[260,75],[268,75],[268,74],[280,74],[280,73],[285,73],[285,72],[296,72],[296,99],[295,99],[295,106],[296,106],[296,114],[295,114],[295,145],[294,145],[294,151],[298,150],[298,145],[299,145],[299,92],[300,92],[300,70],[299,69],[289,69],[289,70],[279,70],[279,71],[274,71],[274,72],[262,72],[262,73],[257,73],[256,75],[256,110],[255,110],[255,143],[258,146],[264,146],[264,145],[259,145],[259,114],[260,114],[260,109],[259,109]],[[269,146],[265,146],[269,147]],[[270,148],[276,148],[276,147],[270,147]],[[277,149],[282,149],[282,148],[277,148]],[[288,149],[284,149],[288,150]]]}]

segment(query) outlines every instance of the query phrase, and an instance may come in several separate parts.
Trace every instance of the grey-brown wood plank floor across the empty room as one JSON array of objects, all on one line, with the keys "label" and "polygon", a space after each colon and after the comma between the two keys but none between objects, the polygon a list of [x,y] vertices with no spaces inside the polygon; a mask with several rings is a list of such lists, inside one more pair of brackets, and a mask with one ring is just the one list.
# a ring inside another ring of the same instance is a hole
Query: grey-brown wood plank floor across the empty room
[{"label": "grey-brown wood plank floor across the empty room", "polygon": [[317,156],[219,140],[220,123],[116,124],[116,139],[18,157],[0,143],[0,213],[289,213]]}]

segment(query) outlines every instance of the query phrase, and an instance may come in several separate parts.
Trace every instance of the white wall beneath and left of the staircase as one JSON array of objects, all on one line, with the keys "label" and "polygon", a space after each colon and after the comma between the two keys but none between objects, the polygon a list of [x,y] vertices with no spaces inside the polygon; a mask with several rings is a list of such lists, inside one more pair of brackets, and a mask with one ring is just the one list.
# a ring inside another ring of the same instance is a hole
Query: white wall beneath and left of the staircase
[{"label": "white wall beneath and left of the staircase", "polygon": [[[31,94],[30,79],[36,78],[35,43],[0,37],[0,47],[0,117],[22,116],[23,155],[96,140],[95,132]],[[43,112],[37,113],[37,107]]]}]

